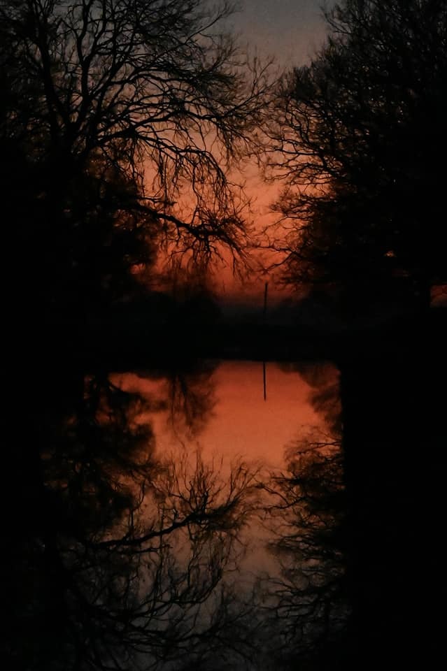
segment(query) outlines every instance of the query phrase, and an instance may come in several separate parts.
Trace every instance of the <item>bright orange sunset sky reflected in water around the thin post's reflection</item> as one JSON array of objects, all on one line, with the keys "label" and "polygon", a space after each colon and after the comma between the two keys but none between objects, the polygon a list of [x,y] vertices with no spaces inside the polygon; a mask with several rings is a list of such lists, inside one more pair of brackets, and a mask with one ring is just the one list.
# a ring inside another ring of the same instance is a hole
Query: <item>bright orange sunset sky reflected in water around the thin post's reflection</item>
[{"label": "bright orange sunset sky reflected in water around the thin post's reflection", "polygon": [[[164,379],[150,373],[115,376],[123,389],[139,391],[146,398],[166,394]],[[312,387],[296,371],[285,371],[267,363],[267,400],[263,395],[262,363],[225,361],[209,380],[213,404],[201,431],[185,435],[172,425],[169,407],[149,412],[157,451],[172,452],[183,445],[199,448],[204,459],[261,461],[269,468],[282,468],[285,447],[309,427],[324,426],[311,405]],[[143,418],[142,418],[143,420]]]}]

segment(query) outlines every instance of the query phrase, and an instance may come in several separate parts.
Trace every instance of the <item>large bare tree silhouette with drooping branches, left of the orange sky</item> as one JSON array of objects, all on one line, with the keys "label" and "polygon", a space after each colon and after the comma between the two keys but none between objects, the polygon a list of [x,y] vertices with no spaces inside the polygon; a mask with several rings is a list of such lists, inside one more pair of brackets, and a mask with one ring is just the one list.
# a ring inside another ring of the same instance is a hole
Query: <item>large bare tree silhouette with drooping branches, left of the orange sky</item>
[{"label": "large bare tree silhouette with drooping branches, left of the orange sky", "polygon": [[2,177],[24,294],[119,293],[161,247],[190,262],[221,245],[243,255],[229,173],[254,146],[266,82],[218,32],[230,12],[1,1]]}]

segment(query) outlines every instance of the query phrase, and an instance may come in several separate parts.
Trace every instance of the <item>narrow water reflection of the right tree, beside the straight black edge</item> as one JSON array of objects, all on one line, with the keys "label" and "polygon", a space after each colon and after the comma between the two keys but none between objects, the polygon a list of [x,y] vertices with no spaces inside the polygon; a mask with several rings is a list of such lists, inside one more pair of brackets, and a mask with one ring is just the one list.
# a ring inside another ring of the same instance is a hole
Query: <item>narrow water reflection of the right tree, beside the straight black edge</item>
[{"label": "narrow water reflection of the right tree, beside the straight black edge", "polygon": [[275,668],[342,668],[350,605],[340,438],[311,431],[286,459],[287,472],[264,487],[272,497],[269,549],[277,561],[264,585],[270,654]]}]

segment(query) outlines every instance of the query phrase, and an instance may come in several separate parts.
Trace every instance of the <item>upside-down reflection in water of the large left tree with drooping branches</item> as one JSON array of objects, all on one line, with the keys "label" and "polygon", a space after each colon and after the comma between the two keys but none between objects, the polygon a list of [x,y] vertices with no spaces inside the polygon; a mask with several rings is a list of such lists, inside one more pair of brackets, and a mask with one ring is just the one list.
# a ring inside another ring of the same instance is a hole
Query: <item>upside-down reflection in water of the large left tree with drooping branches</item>
[{"label": "upside-down reflection in water of the large left tree with drooping branches", "polygon": [[38,413],[20,487],[32,507],[7,535],[8,668],[206,668],[210,649],[219,668],[247,656],[229,573],[255,474],[156,459],[143,404],[101,375]]}]

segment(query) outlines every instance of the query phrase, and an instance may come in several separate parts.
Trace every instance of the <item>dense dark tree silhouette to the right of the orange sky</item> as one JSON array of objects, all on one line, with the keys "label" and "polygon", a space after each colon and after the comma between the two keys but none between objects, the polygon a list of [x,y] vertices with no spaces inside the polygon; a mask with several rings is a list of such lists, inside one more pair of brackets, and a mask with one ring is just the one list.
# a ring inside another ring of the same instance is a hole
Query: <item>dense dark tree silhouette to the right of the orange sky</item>
[{"label": "dense dark tree silhouette to the right of the orange sky", "polygon": [[351,305],[407,284],[429,305],[447,272],[447,3],[346,0],[326,17],[322,50],[283,78],[271,134],[285,280]]}]

